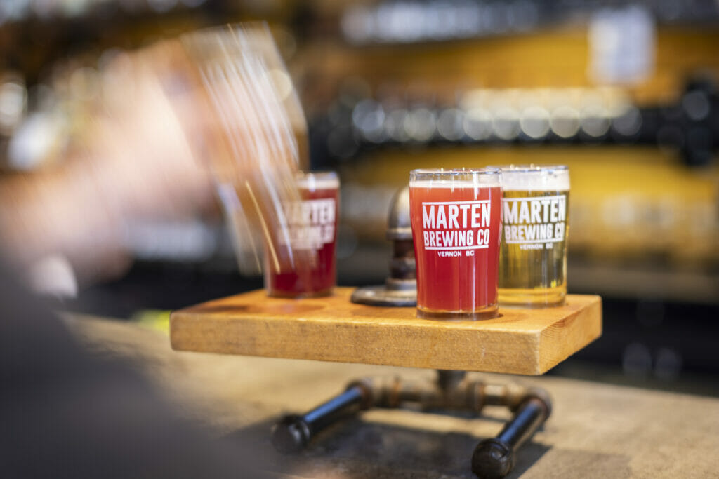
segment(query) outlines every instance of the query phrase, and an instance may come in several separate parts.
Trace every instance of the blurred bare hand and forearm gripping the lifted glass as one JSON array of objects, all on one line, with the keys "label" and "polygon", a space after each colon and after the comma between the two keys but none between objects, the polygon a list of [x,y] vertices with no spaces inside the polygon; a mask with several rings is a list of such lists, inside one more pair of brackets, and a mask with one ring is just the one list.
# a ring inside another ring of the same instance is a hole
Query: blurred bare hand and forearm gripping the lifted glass
[{"label": "blurred bare hand and forearm gripping the lifted glass", "polygon": [[120,54],[104,72],[103,98],[87,128],[63,159],[0,182],[0,239],[20,269],[61,256],[82,282],[115,276],[129,262],[129,222],[211,207],[209,169],[191,154],[158,83],[160,74],[178,71],[169,61],[157,47]]}]

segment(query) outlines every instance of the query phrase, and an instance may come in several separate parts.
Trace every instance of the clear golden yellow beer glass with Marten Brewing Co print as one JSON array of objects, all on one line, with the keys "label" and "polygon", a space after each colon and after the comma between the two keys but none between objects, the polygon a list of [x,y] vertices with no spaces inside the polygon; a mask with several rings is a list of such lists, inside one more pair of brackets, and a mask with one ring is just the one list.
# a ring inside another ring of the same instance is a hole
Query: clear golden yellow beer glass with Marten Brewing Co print
[{"label": "clear golden yellow beer glass with Marten Brewing Co print", "polygon": [[500,304],[544,307],[567,296],[569,169],[501,167]]}]

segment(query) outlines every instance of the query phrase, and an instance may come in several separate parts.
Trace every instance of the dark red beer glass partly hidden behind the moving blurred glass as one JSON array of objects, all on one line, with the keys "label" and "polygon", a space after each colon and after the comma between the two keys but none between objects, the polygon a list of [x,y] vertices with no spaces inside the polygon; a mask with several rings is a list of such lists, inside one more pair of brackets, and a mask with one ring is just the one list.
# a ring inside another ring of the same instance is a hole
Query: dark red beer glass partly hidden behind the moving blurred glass
[{"label": "dark red beer glass partly hidden behind the moving blurred glass", "polygon": [[302,200],[285,208],[287,227],[278,232],[278,243],[297,256],[275,262],[268,252],[265,288],[273,297],[328,296],[336,283],[339,179],[334,172],[298,173],[297,187]]}]

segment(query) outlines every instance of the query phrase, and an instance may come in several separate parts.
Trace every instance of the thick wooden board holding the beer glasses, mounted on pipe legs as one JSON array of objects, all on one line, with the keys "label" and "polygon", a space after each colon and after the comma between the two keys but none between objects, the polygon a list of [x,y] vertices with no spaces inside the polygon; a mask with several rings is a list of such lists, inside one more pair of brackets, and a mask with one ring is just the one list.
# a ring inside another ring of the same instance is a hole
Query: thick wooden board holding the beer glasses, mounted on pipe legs
[{"label": "thick wooden board holding the beer glasses, mounted on pipe legs", "polygon": [[383,364],[412,368],[542,374],[602,333],[602,299],[569,294],[561,307],[500,308],[479,321],[425,320],[413,307],[331,297],[278,299],[264,290],[173,312],[175,350]]}]

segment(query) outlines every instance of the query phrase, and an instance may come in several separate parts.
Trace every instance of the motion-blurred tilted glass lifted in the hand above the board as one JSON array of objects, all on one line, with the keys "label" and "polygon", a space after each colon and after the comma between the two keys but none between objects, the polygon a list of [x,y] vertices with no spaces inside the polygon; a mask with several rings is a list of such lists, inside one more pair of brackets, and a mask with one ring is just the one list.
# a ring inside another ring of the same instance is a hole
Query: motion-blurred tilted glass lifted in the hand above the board
[{"label": "motion-blurred tilted glass lifted in the hand above the board", "polygon": [[175,57],[189,66],[163,84],[195,157],[209,167],[240,271],[262,271],[263,246],[275,271],[307,269],[301,261],[311,256],[278,242],[288,236],[283,208],[300,199],[295,173],[308,155],[301,106],[270,29],[213,27],[179,43]]}]

